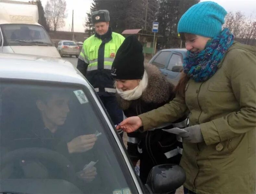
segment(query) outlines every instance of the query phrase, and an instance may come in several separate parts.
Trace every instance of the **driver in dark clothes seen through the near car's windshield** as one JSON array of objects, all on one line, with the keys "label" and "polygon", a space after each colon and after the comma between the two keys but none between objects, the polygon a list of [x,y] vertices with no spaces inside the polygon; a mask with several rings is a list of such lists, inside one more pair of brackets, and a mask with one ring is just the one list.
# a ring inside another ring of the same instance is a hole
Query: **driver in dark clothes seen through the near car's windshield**
[{"label": "driver in dark clothes seen through the near car's windshield", "polygon": [[[16,141],[19,141],[18,148],[22,147],[43,147],[54,150],[67,157],[73,164],[79,179],[91,182],[97,175],[96,167],[83,170],[86,163],[92,158],[92,148],[97,137],[92,132],[84,135],[84,131],[79,130],[73,123],[67,122],[70,95],[63,90],[38,90],[36,95],[36,113],[30,116],[29,122],[22,128],[24,132],[20,134]],[[70,120],[72,120],[71,118]],[[69,124],[71,123],[71,124]],[[17,147],[15,149],[18,149]],[[13,150],[13,148],[12,148]],[[47,164],[41,161],[26,161],[21,165],[22,172],[26,178],[47,178],[52,174],[57,174],[55,169],[47,170]],[[49,172],[50,171],[50,172]],[[53,175],[53,177],[55,177]]]}]

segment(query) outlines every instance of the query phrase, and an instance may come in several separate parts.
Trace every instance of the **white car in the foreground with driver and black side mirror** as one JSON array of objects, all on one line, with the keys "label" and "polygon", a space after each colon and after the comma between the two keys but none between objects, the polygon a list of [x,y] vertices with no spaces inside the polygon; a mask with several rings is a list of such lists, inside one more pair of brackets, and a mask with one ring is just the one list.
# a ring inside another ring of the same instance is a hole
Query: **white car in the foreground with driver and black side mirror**
[{"label": "white car in the foreground with driver and black side mirror", "polygon": [[98,96],[69,63],[0,54],[0,193],[167,193],[177,165],[143,185]]}]

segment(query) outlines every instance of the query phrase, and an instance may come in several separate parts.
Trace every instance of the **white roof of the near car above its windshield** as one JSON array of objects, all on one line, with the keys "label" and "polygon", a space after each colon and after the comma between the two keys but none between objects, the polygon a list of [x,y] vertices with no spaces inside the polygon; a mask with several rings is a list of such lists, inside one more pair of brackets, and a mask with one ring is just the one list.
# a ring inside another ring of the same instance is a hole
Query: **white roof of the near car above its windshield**
[{"label": "white roof of the near car above its windshield", "polygon": [[91,87],[73,65],[62,59],[10,56],[0,54],[0,78],[78,83]]}]

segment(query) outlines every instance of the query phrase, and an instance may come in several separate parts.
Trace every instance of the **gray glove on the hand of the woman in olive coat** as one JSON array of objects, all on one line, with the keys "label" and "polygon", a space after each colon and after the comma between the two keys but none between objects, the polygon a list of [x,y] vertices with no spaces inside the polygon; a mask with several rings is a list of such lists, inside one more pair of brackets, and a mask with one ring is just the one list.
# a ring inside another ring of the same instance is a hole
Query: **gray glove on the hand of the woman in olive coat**
[{"label": "gray glove on the hand of the woman in olive coat", "polygon": [[200,143],[204,141],[199,124],[186,127],[184,128],[184,130],[186,130],[187,132],[179,134],[179,136],[182,137],[183,140],[187,140],[191,143]]}]

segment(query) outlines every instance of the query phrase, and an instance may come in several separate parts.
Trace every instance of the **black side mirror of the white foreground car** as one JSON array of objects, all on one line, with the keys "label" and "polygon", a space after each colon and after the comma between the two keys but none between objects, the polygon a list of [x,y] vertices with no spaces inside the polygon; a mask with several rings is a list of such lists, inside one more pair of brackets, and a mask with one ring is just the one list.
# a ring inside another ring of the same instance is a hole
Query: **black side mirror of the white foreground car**
[{"label": "black side mirror of the white foreground car", "polygon": [[145,186],[151,193],[169,193],[179,188],[186,180],[182,167],[172,164],[154,166]]}]

